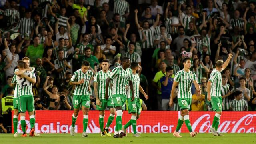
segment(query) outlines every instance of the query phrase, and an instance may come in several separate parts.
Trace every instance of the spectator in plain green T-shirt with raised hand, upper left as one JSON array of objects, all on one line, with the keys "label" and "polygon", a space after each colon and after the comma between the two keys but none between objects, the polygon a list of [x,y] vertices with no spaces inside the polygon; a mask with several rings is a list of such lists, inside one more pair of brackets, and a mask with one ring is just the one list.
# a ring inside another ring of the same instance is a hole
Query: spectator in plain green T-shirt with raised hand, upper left
[{"label": "spectator in plain green T-shirt with raised hand, upper left", "polygon": [[[47,36],[47,31],[44,31],[44,34]],[[44,48],[46,47],[47,43],[47,38],[45,39],[44,44],[40,44],[39,37],[34,37],[34,44],[28,46],[28,50],[26,51],[26,56],[30,58],[31,66],[36,65],[36,58],[42,58]]]}]

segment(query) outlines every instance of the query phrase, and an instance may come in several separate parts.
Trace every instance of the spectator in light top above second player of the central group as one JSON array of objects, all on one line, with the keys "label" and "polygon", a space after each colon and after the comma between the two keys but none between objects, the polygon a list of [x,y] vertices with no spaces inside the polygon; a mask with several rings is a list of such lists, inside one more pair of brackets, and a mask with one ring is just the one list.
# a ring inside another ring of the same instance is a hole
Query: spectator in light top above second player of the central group
[{"label": "spectator in light top above second player of the central group", "polygon": [[116,53],[116,47],[111,45],[112,39],[108,36],[105,38],[105,44],[101,45],[101,50],[106,56],[106,60],[109,61],[110,66],[113,65],[114,54]]}]

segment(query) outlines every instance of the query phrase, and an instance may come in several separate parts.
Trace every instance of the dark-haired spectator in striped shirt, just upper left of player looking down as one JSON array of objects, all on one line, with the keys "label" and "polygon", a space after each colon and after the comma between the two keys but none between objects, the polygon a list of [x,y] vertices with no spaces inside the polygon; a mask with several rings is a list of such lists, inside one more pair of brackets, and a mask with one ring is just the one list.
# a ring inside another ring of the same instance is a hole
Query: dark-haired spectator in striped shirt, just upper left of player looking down
[{"label": "dark-haired spectator in striped shirt, just upper left of player looking down", "polygon": [[58,78],[64,78],[66,70],[70,69],[70,63],[64,59],[64,50],[58,50],[58,58],[54,60],[54,67],[58,73]]}]

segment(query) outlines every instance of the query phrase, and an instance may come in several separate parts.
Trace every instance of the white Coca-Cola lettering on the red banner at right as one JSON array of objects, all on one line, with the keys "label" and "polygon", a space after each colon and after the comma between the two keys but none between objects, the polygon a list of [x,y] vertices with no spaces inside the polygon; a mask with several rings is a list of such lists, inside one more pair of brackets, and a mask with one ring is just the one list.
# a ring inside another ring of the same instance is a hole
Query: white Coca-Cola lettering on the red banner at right
[{"label": "white Coca-Cola lettering on the red banner at right", "polygon": [[[242,125],[244,125],[244,126],[252,125],[254,117],[256,117],[256,114],[247,114],[247,115],[243,116],[242,118],[240,118],[240,120],[238,120],[237,122],[226,120],[226,121],[223,121],[222,123],[220,123],[220,126],[218,129],[220,130],[220,132],[224,132],[224,133],[230,132],[230,130],[231,130],[231,133],[236,133],[236,132],[237,133],[255,133],[256,132],[255,126],[252,126],[250,128],[242,127]],[[209,120],[210,119],[209,114],[204,114],[204,115],[200,116],[192,125],[192,129],[193,130],[197,129],[198,124],[204,118],[206,118],[206,121],[200,126],[199,132],[200,133],[209,132],[210,127],[212,126],[212,124]],[[233,125],[233,127],[232,127],[232,125]]]}]

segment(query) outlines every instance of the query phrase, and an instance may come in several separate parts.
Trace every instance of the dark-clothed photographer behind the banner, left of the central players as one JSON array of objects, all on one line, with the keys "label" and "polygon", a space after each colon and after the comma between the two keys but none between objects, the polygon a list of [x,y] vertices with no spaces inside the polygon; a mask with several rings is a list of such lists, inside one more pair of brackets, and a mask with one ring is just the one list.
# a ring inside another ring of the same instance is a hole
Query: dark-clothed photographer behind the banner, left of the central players
[{"label": "dark-clothed photographer behind the banner, left of the central players", "polygon": [[67,96],[65,93],[61,93],[60,97],[58,98],[58,103],[55,107],[55,110],[71,110],[71,104],[67,100]]}]

